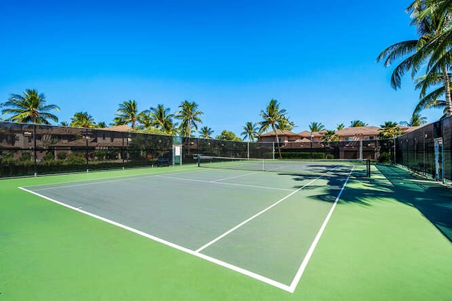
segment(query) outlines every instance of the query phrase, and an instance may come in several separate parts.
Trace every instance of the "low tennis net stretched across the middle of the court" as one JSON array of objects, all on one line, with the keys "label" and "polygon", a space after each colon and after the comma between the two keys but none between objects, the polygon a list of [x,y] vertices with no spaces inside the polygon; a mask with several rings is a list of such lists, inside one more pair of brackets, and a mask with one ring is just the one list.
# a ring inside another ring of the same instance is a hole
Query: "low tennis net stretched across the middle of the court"
[{"label": "low tennis net stretched across the middle of the court", "polygon": [[206,168],[237,169],[244,171],[273,171],[277,173],[319,174],[326,172],[350,173],[370,177],[368,159],[247,159],[221,156],[198,156],[198,166]]}]

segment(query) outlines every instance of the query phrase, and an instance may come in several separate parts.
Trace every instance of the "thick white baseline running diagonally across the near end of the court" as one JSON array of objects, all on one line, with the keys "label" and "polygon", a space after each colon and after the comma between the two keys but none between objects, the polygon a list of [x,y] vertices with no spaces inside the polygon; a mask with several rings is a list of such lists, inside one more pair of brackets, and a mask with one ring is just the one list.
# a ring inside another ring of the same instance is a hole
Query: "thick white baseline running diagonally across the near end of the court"
[{"label": "thick white baseline running diagonally across the near end of the court", "polygon": [[212,262],[212,263],[214,263],[214,264],[218,264],[218,265],[223,266],[223,267],[225,267],[225,268],[227,268],[227,269],[230,269],[230,270],[232,270],[232,271],[236,271],[237,273],[244,274],[244,275],[249,276],[249,277],[251,277],[251,278],[254,278],[254,279],[258,280],[258,281],[262,281],[262,282],[267,283],[267,284],[269,284],[269,285],[273,285],[273,286],[275,286],[276,288],[280,288],[281,290],[285,290],[285,291],[287,291],[287,292],[290,292],[289,285],[286,285],[286,284],[280,283],[280,282],[278,282],[278,281],[275,281],[275,280],[273,280],[273,279],[267,278],[267,277],[265,277],[265,276],[256,274],[256,273],[254,273],[254,272],[252,272],[252,271],[248,271],[248,270],[246,270],[246,269],[242,269],[242,268],[240,268],[239,266],[234,266],[234,265],[232,265],[232,264],[228,264],[227,262],[222,262],[221,260],[215,259],[215,258],[210,257],[210,256],[208,256],[208,255],[201,254],[201,253],[198,253],[198,252],[194,252],[193,250],[189,250],[189,249],[187,249],[186,247],[182,247],[182,246],[180,246],[180,245],[176,245],[175,243],[169,242],[169,241],[167,241],[167,240],[163,240],[162,238],[157,238],[157,236],[150,235],[150,234],[145,233],[145,232],[143,232],[143,231],[139,231],[139,230],[137,230],[137,229],[135,229],[135,228],[131,228],[131,227],[126,226],[126,225],[124,225],[124,224],[122,224],[122,223],[118,223],[118,222],[116,222],[116,221],[112,221],[111,219],[105,219],[105,217],[98,216],[97,214],[92,214],[92,213],[90,213],[90,212],[88,212],[88,211],[81,210],[80,208],[73,207],[73,206],[71,206],[71,205],[69,205],[69,204],[64,204],[64,203],[62,203],[62,202],[57,201],[56,199],[52,199],[52,198],[50,198],[50,197],[46,197],[45,195],[40,195],[39,193],[34,192],[34,191],[32,191],[32,190],[28,190],[28,189],[22,188],[22,187],[19,187],[19,189],[20,189],[20,190],[23,190],[23,191],[25,191],[25,192],[29,192],[29,193],[31,193],[31,194],[33,194],[33,195],[37,195],[38,197],[42,197],[43,199],[47,199],[47,200],[49,200],[50,202],[54,202],[54,203],[56,203],[56,204],[59,204],[59,205],[61,205],[61,206],[66,207],[66,208],[69,208],[69,209],[78,211],[78,212],[80,212],[81,214],[86,214],[86,215],[91,216],[91,217],[93,217],[93,218],[95,218],[95,219],[100,219],[100,221],[105,221],[106,223],[112,224],[112,225],[117,226],[117,227],[119,227],[119,228],[123,228],[124,230],[131,231],[131,232],[136,233],[136,234],[138,234],[138,235],[144,236],[145,238],[149,238],[149,239],[151,239],[151,240],[155,240],[156,242],[160,242],[160,243],[162,243],[163,245],[167,245],[167,246],[169,246],[169,247],[173,247],[174,249],[177,249],[177,250],[179,250],[179,251],[186,252],[186,253],[191,254],[191,255],[194,255],[194,256],[196,256],[196,257],[205,259],[205,260],[207,260],[208,262]]}]

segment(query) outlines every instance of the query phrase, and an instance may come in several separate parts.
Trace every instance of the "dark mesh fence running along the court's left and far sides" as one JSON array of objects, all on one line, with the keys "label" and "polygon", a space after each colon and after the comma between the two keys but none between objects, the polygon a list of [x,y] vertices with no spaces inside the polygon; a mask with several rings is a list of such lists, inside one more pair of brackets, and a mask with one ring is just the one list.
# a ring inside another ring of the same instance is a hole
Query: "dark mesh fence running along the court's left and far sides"
[{"label": "dark mesh fence running along the court's left and far sides", "polygon": [[[182,149],[174,156],[175,146]],[[0,177],[109,168],[195,164],[198,154],[234,158],[379,159],[393,154],[391,140],[242,142],[172,137],[95,128],[0,122]],[[173,161],[174,160],[174,161]]]}]

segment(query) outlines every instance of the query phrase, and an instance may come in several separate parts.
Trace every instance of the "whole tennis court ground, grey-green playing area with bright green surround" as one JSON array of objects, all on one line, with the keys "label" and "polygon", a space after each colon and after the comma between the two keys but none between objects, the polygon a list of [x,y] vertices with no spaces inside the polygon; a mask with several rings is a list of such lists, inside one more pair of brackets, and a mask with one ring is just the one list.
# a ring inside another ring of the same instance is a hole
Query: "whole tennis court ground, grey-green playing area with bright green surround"
[{"label": "whole tennis court ground, grey-green playing area with bright green surround", "polygon": [[451,300],[450,188],[311,167],[1,180],[0,301]]}]

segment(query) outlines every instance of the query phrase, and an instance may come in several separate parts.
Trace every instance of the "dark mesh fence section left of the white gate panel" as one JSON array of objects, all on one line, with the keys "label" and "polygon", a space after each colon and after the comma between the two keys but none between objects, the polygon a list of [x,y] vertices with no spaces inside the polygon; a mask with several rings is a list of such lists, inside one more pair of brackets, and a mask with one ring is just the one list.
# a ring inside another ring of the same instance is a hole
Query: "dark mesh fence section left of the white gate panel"
[{"label": "dark mesh fence section left of the white gate panel", "polygon": [[171,136],[0,123],[0,177],[153,166],[171,154]]}]

